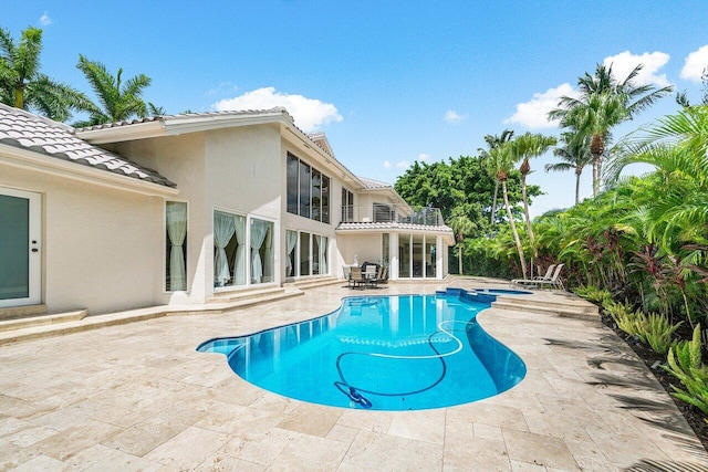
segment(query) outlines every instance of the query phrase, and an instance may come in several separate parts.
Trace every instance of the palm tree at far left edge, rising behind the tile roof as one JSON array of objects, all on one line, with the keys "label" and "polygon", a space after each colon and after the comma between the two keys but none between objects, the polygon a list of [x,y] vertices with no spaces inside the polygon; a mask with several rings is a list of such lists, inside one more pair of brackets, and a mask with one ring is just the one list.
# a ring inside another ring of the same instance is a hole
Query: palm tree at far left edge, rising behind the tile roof
[{"label": "palm tree at far left edge, rising behind the tile roof", "polygon": [[0,28],[0,102],[64,122],[88,99],[81,92],[40,73],[42,30],[29,27],[14,42]]}]

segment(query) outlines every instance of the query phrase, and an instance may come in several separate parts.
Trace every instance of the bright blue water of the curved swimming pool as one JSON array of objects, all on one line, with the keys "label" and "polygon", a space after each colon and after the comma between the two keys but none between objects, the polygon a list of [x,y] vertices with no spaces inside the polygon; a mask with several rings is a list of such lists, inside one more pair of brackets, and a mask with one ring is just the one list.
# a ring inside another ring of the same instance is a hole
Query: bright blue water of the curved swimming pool
[{"label": "bright blue water of the curved swimming pool", "polygon": [[488,398],[525,376],[523,361],[478,324],[493,295],[353,296],[309,322],[211,339],[243,379],[343,408],[419,410]]}]

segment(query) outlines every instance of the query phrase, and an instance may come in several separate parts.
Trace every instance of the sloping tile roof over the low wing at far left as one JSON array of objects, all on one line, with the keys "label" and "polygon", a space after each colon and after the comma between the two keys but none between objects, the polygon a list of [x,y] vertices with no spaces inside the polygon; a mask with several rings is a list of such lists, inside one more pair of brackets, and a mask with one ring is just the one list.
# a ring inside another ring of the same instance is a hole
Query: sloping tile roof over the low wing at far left
[{"label": "sloping tile roof over the low wing at far left", "polygon": [[2,104],[0,143],[146,182],[177,187],[155,170],[80,139],[71,126]]}]

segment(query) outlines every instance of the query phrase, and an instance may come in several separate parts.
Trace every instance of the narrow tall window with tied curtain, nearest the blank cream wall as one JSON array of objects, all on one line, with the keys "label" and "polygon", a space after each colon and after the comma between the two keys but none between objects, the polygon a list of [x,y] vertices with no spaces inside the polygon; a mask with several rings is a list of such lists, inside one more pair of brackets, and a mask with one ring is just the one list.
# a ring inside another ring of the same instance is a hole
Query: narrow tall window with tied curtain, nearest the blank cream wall
[{"label": "narrow tall window with tied curtain, nearest the blank cream wall", "polygon": [[165,202],[165,289],[167,292],[187,290],[187,203]]}]

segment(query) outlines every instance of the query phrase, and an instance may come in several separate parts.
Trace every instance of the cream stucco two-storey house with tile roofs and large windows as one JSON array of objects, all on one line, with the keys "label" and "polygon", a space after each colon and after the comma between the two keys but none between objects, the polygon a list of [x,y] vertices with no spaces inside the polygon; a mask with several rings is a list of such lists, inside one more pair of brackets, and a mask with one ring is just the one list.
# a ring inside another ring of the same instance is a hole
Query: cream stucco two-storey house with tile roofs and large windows
[{"label": "cream stucco two-storey house with tile roofs and large windows", "polygon": [[440,280],[451,244],[284,108],[74,129],[0,105],[0,311],[199,305],[355,259]]}]

